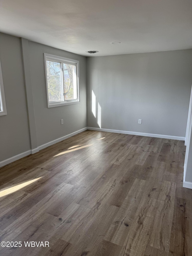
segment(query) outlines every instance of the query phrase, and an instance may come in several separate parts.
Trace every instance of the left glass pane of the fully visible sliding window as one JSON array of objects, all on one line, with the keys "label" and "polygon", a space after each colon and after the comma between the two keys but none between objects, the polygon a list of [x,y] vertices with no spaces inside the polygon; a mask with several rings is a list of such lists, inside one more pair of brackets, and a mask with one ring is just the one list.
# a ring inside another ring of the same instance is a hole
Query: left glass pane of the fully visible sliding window
[{"label": "left glass pane of the fully visible sliding window", "polygon": [[61,63],[46,61],[49,101],[63,101]]}]

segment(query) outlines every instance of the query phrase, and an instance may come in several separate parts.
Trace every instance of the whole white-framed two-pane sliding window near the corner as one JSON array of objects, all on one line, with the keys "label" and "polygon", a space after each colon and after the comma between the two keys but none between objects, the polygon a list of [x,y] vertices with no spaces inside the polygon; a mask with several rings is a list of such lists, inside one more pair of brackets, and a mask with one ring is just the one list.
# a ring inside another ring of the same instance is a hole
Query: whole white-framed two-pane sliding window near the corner
[{"label": "whole white-framed two-pane sliding window near the corner", "polygon": [[48,107],[79,103],[79,61],[44,53]]}]

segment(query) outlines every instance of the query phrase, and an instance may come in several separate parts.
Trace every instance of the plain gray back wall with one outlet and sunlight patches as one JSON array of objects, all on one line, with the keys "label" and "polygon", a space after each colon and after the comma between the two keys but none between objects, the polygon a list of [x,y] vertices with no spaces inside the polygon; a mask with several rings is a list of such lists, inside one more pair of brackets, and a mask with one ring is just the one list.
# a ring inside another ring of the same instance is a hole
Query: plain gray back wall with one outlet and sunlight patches
[{"label": "plain gray back wall with one outlet and sunlight patches", "polygon": [[88,57],[88,127],[93,90],[101,128],[185,137],[191,71],[192,50]]}]

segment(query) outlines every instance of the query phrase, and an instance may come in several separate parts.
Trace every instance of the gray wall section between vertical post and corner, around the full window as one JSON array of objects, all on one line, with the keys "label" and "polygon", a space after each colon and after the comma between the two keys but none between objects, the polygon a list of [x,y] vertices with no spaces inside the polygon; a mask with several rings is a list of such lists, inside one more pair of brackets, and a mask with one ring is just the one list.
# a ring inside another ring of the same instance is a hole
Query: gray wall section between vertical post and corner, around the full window
[{"label": "gray wall section between vertical post and corner, around the full window", "polygon": [[[79,60],[80,104],[47,108],[44,53]],[[38,146],[87,126],[86,57],[29,41]],[[61,125],[61,119],[64,124]]]}]

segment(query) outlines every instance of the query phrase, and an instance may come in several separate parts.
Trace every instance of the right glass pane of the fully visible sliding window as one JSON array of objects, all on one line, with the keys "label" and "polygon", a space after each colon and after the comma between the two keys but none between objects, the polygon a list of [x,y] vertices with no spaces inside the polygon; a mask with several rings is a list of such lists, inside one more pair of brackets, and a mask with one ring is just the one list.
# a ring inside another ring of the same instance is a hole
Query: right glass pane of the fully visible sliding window
[{"label": "right glass pane of the fully visible sliding window", "polygon": [[77,98],[76,66],[63,63],[64,100]]}]

